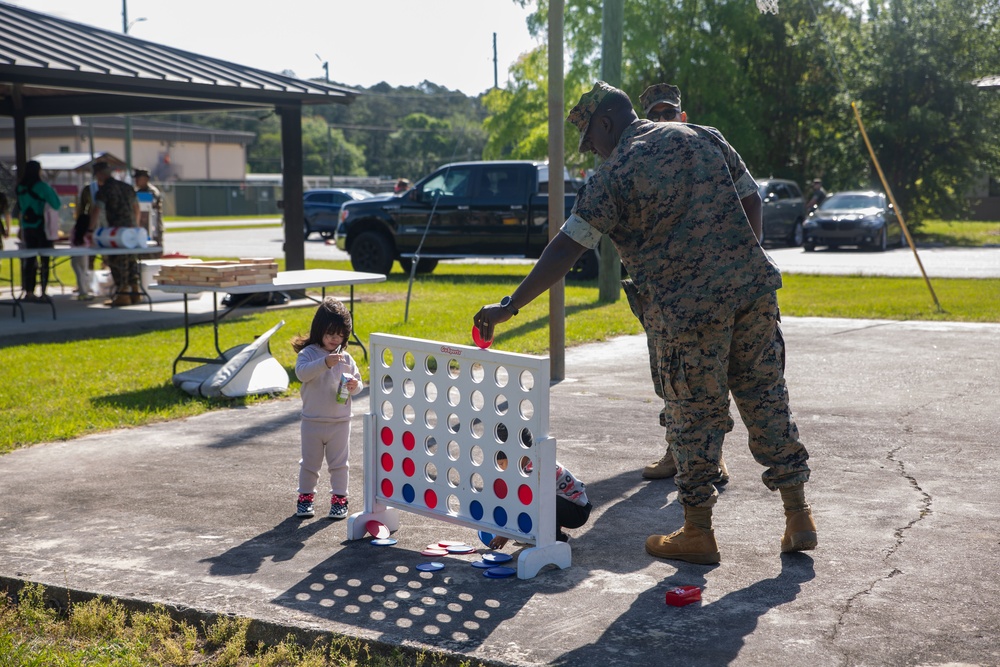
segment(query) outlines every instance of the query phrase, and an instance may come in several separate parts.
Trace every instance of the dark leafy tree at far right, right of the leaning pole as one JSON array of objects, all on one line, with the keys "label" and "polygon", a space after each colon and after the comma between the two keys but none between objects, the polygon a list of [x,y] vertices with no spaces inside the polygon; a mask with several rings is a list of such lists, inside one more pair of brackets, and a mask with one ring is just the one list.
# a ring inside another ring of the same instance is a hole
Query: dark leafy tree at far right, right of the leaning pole
[{"label": "dark leafy tree at far right, right of the leaning pole", "polygon": [[[970,183],[1000,173],[995,0],[871,0],[851,63],[879,163],[908,221],[965,210]],[[874,173],[871,182],[878,183]]]}]

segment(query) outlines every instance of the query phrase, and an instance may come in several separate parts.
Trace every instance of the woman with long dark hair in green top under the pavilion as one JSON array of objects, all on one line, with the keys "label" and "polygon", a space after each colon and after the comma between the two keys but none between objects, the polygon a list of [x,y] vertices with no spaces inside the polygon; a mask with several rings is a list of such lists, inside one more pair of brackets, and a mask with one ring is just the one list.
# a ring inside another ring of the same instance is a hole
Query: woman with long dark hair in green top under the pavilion
[{"label": "woman with long dark hair in green top under the pavilion", "polygon": [[[31,160],[24,165],[24,176],[17,186],[17,205],[21,209],[18,235],[23,248],[51,248],[52,241],[45,235],[45,205],[58,210],[59,196],[42,180],[42,165]],[[42,294],[35,296],[35,279],[38,275],[38,257],[21,260],[21,287],[25,301],[46,301],[45,288],[49,283],[49,258],[42,257]]]}]

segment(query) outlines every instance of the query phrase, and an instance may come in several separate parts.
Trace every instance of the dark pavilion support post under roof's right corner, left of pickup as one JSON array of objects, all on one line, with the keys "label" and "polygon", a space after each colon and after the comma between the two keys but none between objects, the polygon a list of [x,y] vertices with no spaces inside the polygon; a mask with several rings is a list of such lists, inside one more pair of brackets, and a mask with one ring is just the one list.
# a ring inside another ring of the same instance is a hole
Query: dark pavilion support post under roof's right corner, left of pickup
[{"label": "dark pavilion support post under roof's right corner, left of pickup", "polygon": [[302,105],[279,106],[281,116],[281,198],[285,218],[285,270],[306,268],[302,209]]}]

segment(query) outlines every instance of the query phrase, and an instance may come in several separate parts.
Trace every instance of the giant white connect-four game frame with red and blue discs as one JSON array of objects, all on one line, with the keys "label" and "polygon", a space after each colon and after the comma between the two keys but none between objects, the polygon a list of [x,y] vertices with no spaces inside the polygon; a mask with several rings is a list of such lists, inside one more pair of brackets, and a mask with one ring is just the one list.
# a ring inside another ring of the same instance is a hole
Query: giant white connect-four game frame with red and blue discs
[{"label": "giant white connect-four game frame with red and blue discs", "polygon": [[388,334],[369,349],[365,508],[348,539],[373,519],[395,532],[405,510],[534,544],[518,556],[520,579],[569,567],[572,550],[555,539],[548,357]]}]

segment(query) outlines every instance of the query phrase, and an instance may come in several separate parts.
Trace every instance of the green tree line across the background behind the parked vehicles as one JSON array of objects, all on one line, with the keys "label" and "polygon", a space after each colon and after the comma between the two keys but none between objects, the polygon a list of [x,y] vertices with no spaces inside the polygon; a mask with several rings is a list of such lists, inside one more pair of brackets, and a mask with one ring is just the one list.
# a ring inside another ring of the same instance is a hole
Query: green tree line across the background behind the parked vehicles
[{"label": "green tree line across the background behind the parked vehicles", "polygon": [[[534,4],[529,29],[544,37],[548,0]],[[568,111],[600,78],[600,2],[566,0],[564,26]],[[628,0],[621,86],[638,103],[651,84],[678,85],[689,122],[721,130],[758,178],[881,189],[854,103],[919,223],[961,217],[971,184],[1000,177],[1000,90],[973,85],[1000,75],[998,37],[1000,0],[780,0],[777,15],[753,0]],[[416,179],[449,161],[543,160],[546,47],[523,54],[508,79],[478,97],[381,83],[356,88],[350,105],[306,107],[306,173]],[[185,120],[254,132],[250,170],[280,171],[276,115]],[[565,136],[567,165],[593,167],[575,150],[576,128]]]}]

